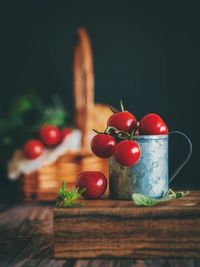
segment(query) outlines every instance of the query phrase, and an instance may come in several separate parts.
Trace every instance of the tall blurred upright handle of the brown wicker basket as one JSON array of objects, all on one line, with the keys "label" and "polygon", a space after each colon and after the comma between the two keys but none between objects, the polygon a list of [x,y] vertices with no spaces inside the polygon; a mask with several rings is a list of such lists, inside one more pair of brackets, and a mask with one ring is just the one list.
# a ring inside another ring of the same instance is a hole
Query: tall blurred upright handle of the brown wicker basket
[{"label": "tall blurred upright handle of the brown wicker basket", "polygon": [[89,147],[91,112],[94,106],[94,72],[92,49],[85,29],[78,29],[74,49],[75,122],[82,131],[82,147]]}]

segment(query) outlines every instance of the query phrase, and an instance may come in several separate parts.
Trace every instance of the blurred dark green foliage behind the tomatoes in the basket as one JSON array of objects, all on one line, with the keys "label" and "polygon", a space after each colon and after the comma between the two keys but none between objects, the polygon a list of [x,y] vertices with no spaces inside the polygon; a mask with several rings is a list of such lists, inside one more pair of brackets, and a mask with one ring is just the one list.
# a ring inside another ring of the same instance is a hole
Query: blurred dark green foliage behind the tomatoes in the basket
[{"label": "blurred dark green foliage behind the tomatoes in the basket", "polygon": [[0,102],[1,169],[6,167],[16,148],[21,147],[27,139],[37,138],[41,125],[63,127],[68,122],[69,113],[58,95],[52,96],[50,104],[45,104],[34,91],[14,98],[6,103],[6,107]]}]

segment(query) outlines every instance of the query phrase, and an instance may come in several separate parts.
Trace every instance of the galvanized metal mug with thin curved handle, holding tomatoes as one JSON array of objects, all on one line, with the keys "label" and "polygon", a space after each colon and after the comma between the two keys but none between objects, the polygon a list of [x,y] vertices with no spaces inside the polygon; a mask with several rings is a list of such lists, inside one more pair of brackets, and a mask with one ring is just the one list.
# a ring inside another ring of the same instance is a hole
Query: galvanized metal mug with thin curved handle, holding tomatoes
[{"label": "galvanized metal mug with thin curved handle, holding tomatoes", "polygon": [[[168,139],[171,134],[182,135],[189,144],[186,159],[170,176],[168,174]],[[141,149],[139,162],[133,167],[120,165],[110,158],[110,198],[131,199],[133,193],[150,197],[162,197],[169,189],[169,183],[188,162],[192,154],[192,143],[182,132],[173,131],[169,135],[135,136]]]}]

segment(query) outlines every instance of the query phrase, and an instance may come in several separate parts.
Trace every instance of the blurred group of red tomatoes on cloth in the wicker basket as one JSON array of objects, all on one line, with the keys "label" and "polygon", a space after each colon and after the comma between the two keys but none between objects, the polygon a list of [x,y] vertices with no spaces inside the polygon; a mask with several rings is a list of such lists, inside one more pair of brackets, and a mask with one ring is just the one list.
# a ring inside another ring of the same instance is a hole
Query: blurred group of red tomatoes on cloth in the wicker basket
[{"label": "blurred group of red tomatoes on cloth in the wicker basket", "polygon": [[71,132],[72,129],[70,128],[63,128],[60,130],[54,125],[43,125],[39,130],[39,139],[31,139],[24,144],[24,157],[29,160],[38,158],[44,152],[45,146],[57,146],[67,135],[71,134]]}]

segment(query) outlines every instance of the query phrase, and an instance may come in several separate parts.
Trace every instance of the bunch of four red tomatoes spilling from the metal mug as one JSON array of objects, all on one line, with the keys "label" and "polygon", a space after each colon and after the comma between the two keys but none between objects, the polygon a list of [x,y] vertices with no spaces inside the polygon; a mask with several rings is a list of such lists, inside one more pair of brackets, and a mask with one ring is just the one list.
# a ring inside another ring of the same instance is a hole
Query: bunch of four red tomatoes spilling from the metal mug
[{"label": "bunch of four red tomatoes spilling from the metal mug", "polygon": [[168,127],[162,118],[154,113],[145,115],[139,122],[135,116],[125,111],[121,103],[121,112],[111,115],[104,133],[97,132],[91,141],[92,152],[101,158],[114,156],[124,166],[135,165],[141,156],[141,150],[135,135],[166,135]]}]

